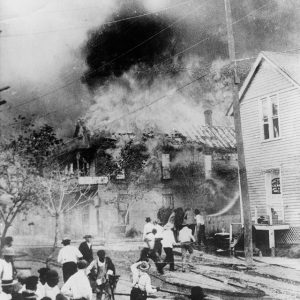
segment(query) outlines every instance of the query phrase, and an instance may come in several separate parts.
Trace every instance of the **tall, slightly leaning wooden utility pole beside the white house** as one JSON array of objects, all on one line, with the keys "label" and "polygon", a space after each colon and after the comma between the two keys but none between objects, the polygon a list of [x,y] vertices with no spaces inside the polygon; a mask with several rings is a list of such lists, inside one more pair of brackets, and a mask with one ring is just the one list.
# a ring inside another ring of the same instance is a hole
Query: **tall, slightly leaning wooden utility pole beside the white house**
[{"label": "tall, slightly leaning wooden utility pole beside the white house", "polygon": [[248,194],[248,181],[246,172],[246,163],[244,155],[244,144],[242,135],[242,124],[241,124],[241,114],[240,114],[240,102],[239,102],[239,91],[238,84],[240,83],[239,77],[237,75],[236,61],[235,61],[235,46],[234,46],[234,36],[232,28],[232,16],[230,0],[225,1],[225,12],[226,12],[226,24],[227,24],[227,36],[228,36],[228,50],[229,58],[234,64],[233,67],[233,114],[234,114],[234,127],[236,134],[236,145],[238,154],[238,165],[239,165],[239,178],[242,197],[242,208],[243,208],[243,219],[244,219],[244,251],[245,260],[248,266],[253,264],[253,245],[252,245],[252,219],[251,219],[251,208],[250,199]]}]

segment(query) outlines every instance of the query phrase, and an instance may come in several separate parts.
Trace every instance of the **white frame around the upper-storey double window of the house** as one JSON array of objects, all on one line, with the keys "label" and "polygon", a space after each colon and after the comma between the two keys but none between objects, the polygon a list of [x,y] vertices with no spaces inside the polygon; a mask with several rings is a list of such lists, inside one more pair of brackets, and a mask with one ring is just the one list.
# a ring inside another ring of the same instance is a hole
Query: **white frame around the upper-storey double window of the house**
[{"label": "white frame around the upper-storey double window of the house", "polygon": [[[274,137],[274,122],[273,120],[276,118],[273,116],[273,107],[272,107],[272,98],[275,97],[277,100],[277,119],[278,119],[278,128],[279,128],[279,135]],[[263,101],[267,100],[267,110],[268,110],[268,123],[264,122],[264,114],[263,114]],[[279,102],[279,94],[272,93],[263,97],[260,97],[258,100],[259,111],[260,111],[260,119],[259,119],[259,127],[260,127],[260,137],[263,143],[270,142],[274,140],[279,140],[282,138],[282,128],[280,123],[280,102]],[[264,124],[269,124],[269,138],[265,139],[265,132],[264,132]]]}]

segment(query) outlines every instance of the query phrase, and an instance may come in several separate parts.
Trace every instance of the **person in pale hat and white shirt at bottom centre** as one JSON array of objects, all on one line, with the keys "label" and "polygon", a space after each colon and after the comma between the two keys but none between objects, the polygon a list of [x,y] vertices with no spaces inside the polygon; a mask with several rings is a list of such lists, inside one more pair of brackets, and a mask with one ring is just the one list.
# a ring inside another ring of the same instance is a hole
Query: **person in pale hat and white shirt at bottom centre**
[{"label": "person in pale hat and white shirt at bottom centre", "polygon": [[146,300],[148,294],[156,293],[159,290],[159,288],[153,288],[151,285],[151,278],[147,273],[150,269],[148,262],[137,262],[130,269],[133,280],[130,300]]}]

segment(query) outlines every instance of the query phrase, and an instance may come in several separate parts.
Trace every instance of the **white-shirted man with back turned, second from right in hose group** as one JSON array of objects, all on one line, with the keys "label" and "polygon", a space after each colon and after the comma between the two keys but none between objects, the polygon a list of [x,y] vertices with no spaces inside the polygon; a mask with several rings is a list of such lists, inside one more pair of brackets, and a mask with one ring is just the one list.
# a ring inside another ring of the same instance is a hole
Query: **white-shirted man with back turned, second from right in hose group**
[{"label": "white-shirted man with back turned, second from right in hose group", "polygon": [[178,240],[180,242],[181,254],[182,254],[182,272],[186,271],[186,260],[189,253],[189,264],[192,263],[194,249],[191,242],[195,242],[195,238],[192,234],[192,230],[187,225],[179,231]]}]

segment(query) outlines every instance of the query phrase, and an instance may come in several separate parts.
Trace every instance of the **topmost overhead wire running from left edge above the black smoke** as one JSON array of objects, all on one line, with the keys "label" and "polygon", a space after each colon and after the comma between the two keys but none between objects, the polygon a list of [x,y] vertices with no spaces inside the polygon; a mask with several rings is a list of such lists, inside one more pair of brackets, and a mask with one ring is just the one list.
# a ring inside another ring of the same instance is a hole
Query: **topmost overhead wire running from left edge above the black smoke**
[{"label": "topmost overhead wire running from left edge above the black smoke", "polygon": [[[144,14],[140,14],[140,15],[136,15],[136,16],[132,16],[132,17],[127,17],[127,18],[123,18],[123,19],[119,19],[119,20],[115,20],[115,21],[109,21],[109,22],[105,22],[103,24],[101,24],[101,26],[104,25],[111,25],[111,24],[115,24],[115,23],[120,23],[120,22],[124,22],[124,21],[128,21],[128,20],[133,20],[133,19],[138,19],[138,18],[142,18],[142,17],[146,17],[149,15],[153,15],[153,14],[157,14],[160,12],[164,12],[166,10],[178,7],[178,6],[182,6],[184,4],[193,2],[194,0],[188,0],[182,3],[178,3],[176,5],[173,6],[169,6],[166,8],[163,8],[161,10],[157,10],[154,12],[149,12],[149,13],[144,13]],[[1,22],[1,21],[0,21]],[[82,29],[82,28],[87,28],[90,25],[85,25],[85,26],[75,26],[75,27],[68,27],[68,28],[63,28],[63,29],[59,29],[59,30],[47,30],[47,31],[40,31],[40,32],[32,32],[32,33],[25,33],[25,34],[11,34],[11,35],[2,35],[2,38],[11,38],[11,37],[20,37],[20,36],[33,36],[33,35],[40,35],[40,34],[46,34],[46,33],[56,33],[56,32],[63,32],[63,31],[69,31],[69,30],[77,30],[77,29]]]}]

